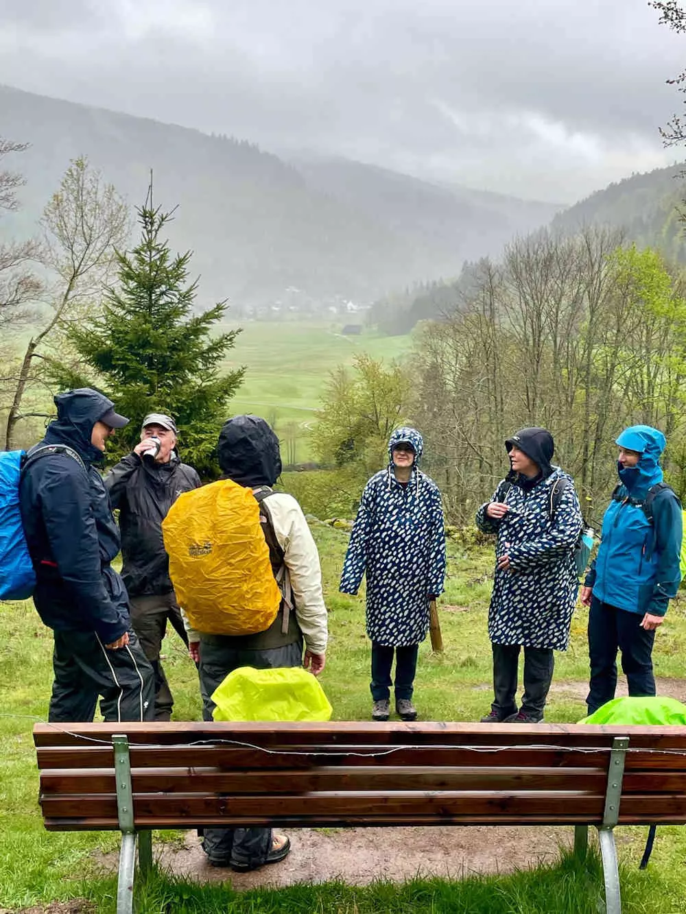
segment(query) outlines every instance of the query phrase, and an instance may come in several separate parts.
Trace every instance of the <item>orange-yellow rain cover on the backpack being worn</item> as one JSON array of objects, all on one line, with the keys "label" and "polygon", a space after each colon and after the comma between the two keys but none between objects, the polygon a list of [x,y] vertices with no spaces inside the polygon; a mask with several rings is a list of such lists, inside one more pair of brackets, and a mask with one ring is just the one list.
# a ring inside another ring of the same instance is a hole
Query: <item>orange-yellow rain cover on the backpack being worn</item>
[{"label": "orange-yellow rain cover on the backpack being worn", "polygon": [[252,489],[222,479],[184,492],[162,533],[177,601],[194,629],[253,634],[269,628],[281,592]]}]

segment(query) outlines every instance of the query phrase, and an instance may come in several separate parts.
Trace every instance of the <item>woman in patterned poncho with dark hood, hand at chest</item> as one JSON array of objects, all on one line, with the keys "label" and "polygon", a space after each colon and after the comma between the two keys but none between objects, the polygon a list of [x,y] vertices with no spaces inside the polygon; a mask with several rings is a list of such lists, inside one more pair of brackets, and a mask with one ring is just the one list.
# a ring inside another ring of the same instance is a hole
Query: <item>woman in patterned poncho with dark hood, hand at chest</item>
[{"label": "woman in patterned poncho with dark hood, hand at chest", "polygon": [[[478,528],[498,536],[488,610],[495,697],[490,713],[481,720],[538,723],[552,681],[552,652],[565,651],[569,642],[579,586],[573,547],[582,515],[571,477],[551,464],[554,445],[549,431],[522,429],[505,447],[510,473],[477,511]],[[552,510],[557,486],[559,503]],[[524,695],[518,712],[515,693],[522,647]]]}]

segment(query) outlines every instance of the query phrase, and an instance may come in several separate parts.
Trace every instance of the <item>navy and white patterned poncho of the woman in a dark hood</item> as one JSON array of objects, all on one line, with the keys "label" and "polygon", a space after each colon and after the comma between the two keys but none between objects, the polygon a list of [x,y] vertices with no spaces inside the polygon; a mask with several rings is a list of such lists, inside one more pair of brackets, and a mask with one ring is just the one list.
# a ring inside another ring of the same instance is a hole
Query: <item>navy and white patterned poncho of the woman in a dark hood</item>
[{"label": "navy and white patterned poncho of the woman in a dark hood", "polygon": [[496,569],[488,610],[488,636],[495,644],[565,651],[579,586],[573,547],[582,527],[579,499],[573,484],[563,490],[551,519],[552,486],[562,478],[560,467],[527,492],[506,480],[491,502],[507,502],[501,521],[477,511],[477,526],[498,535],[496,559],[509,555],[511,571]]}]

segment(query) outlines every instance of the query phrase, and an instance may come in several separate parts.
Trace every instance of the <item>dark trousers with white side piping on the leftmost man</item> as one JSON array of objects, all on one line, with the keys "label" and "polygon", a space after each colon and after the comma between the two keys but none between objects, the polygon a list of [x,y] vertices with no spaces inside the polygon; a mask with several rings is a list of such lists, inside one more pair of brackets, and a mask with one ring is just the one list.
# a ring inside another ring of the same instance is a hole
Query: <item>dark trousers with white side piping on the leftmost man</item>
[{"label": "dark trousers with white side piping on the leftmost man", "polygon": [[54,632],[52,666],[55,681],[48,720],[90,722],[98,696],[105,720],[152,720],[155,676],[152,666],[129,632],[129,643],[108,650],[95,632]]}]

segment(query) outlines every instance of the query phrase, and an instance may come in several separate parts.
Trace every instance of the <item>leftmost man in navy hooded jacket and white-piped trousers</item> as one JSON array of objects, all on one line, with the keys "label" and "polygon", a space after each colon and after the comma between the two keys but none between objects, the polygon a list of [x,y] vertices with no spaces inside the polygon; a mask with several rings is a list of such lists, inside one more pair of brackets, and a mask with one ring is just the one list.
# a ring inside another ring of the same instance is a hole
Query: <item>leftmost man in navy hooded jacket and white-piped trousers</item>
[{"label": "leftmost man in navy hooded jacket and white-piped trousers", "polygon": [[98,696],[106,720],[154,717],[153,670],[131,630],[122,579],[111,567],[119,531],[100,473],[105,443],[128,422],[91,388],[55,398],[58,419],[28,452],[19,489],[34,603],[54,632],[48,719],[90,721]]}]

